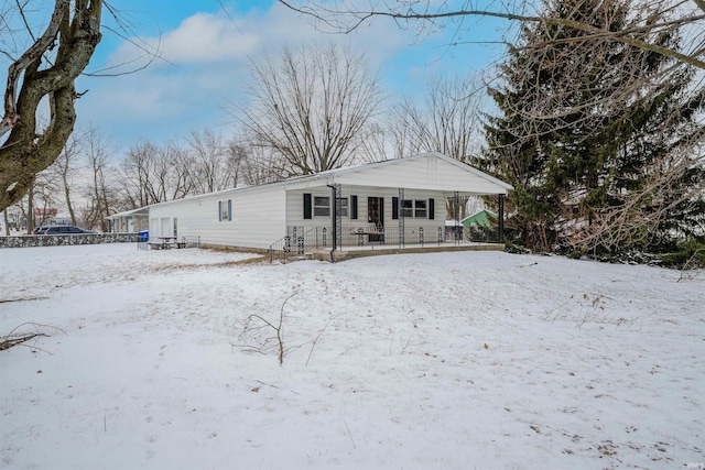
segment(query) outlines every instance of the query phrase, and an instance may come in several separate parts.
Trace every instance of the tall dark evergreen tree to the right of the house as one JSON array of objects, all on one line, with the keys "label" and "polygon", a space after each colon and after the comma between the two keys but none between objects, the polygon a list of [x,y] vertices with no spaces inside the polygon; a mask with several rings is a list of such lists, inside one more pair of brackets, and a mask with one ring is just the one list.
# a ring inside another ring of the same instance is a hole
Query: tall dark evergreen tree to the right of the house
[{"label": "tall dark evergreen tree to the right of the house", "polygon": [[[489,89],[484,166],[514,186],[508,227],[541,251],[672,250],[703,217],[703,92],[672,59],[606,39],[583,41],[571,22],[644,31],[627,0],[551,0],[565,21],[528,25]],[[644,33],[642,33],[644,34]],[[663,32],[658,44],[677,47]],[[672,73],[671,73],[672,72]],[[513,222],[513,223],[512,223]]]}]

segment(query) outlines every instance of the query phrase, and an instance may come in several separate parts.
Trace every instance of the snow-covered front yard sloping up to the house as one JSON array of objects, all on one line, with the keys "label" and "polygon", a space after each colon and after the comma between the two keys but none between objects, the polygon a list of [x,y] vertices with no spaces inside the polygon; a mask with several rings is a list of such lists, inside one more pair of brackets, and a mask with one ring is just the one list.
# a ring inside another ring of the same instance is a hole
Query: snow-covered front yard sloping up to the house
[{"label": "snow-covered front yard sloping up to the house", "polygon": [[704,272],[248,256],[0,250],[0,468],[705,468]]}]

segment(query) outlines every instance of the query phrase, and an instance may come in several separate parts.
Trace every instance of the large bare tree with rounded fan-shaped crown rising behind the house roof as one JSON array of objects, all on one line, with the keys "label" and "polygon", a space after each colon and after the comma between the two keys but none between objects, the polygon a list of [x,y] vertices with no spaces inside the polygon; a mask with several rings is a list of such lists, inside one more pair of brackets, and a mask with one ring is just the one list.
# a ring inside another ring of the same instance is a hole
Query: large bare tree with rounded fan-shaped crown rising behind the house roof
[{"label": "large bare tree with rounded fan-shaped crown rising behind the house roof", "polygon": [[280,178],[354,162],[382,100],[362,56],[334,45],[253,63],[250,87],[251,102],[232,116],[256,145],[281,156]]}]

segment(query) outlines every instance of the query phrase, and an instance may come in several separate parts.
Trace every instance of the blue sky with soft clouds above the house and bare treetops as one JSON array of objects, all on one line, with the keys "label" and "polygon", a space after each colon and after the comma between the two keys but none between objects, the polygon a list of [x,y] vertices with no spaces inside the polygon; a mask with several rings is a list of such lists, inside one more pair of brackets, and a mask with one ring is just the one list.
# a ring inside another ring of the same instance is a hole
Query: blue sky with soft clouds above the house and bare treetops
[{"label": "blue sky with soft clouds above the house and bare treetops", "polygon": [[[235,132],[224,111],[243,98],[250,59],[274,56],[284,45],[336,42],[365,54],[379,72],[389,102],[416,94],[437,74],[469,74],[501,52],[487,44],[448,48],[449,33],[420,41],[413,28],[404,31],[390,21],[377,21],[348,35],[316,32],[308,20],[276,1],[113,0],[129,25],[120,35],[104,31],[104,40],[87,72],[106,67],[131,70],[144,65],[147,50],[161,50],[149,67],[117,77],[82,77],[77,90],[89,89],[77,103],[79,127],[94,124],[118,147],[142,139],[180,142],[191,130]],[[115,28],[105,13],[105,23]],[[462,41],[499,36],[501,23],[482,22]]]}]

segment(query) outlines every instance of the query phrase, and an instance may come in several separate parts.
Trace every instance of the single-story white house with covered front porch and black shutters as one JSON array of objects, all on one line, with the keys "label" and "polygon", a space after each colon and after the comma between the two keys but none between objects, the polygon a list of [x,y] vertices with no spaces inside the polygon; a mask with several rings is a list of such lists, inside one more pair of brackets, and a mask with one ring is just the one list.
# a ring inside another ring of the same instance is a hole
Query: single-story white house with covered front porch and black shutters
[{"label": "single-story white house with covered front porch and black shutters", "polygon": [[426,153],[156,204],[149,208],[149,231],[151,240],[186,237],[202,245],[261,250],[440,242],[447,198],[497,195],[501,211],[509,189],[464,163]]}]

